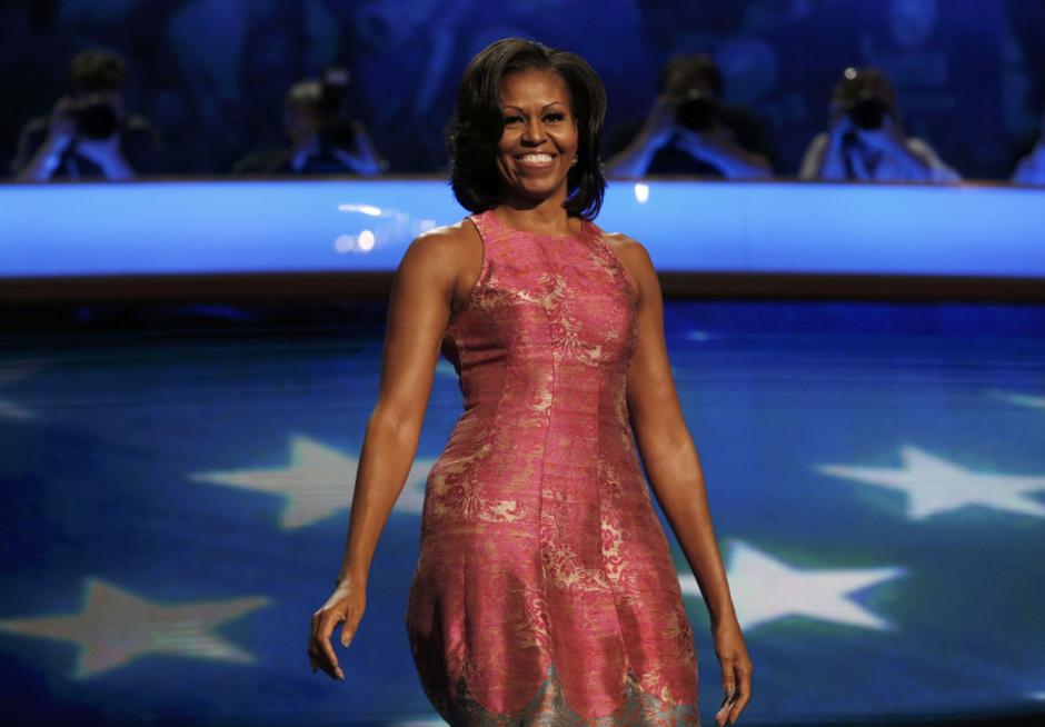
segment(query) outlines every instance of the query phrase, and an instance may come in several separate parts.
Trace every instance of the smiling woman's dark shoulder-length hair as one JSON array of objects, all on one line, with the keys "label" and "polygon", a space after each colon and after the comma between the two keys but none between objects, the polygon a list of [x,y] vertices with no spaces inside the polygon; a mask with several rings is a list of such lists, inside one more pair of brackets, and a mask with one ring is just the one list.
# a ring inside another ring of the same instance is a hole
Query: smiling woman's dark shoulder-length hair
[{"label": "smiling woman's dark shoulder-length hair", "polygon": [[500,82],[506,76],[524,70],[553,71],[569,88],[578,145],[577,163],[566,177],[564,207],[573,217],[595,219],[606,190],[599,162],[599,133],[606,116],[603,81],[580,56],[519,38],[490,43],[465,69],[447,135],[454,196],[471,212],[505,201],[504,182],[495,165],[497,142],[505,130]]}]

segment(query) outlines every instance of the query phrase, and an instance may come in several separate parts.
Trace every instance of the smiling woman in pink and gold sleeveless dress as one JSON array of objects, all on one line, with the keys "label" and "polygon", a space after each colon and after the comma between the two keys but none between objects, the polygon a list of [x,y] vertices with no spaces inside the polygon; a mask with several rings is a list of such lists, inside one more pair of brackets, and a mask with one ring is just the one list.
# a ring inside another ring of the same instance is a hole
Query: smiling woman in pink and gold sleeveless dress
[{"label": "smiling woman in pink and gold sleeveless dress", "polygon": [[451,725],[699,724],[693,631],[636,440],[711,615],[717,723],[750,697],[656,273],[641,245],[590,221],[604,112],[581,58],[518,39],[481,51],[450,135],[474,215],[416,239],[392,286],[345,560],[309,656],[344,679],[330,636],[344,621],[347,646],[362,617],[441,346],[465,412],[428,476],[406,626]]}]

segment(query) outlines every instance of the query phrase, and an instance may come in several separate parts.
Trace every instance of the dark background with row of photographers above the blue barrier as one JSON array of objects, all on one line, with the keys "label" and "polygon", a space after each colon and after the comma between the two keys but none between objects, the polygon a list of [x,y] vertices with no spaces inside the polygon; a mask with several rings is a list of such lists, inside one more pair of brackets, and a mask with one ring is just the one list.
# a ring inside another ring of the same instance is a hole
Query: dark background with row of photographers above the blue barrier
[{"label": "dark background with row of photographers above the blue barrier", "polygon": [[574,50],[610,177],[1045,185],[1045,0],[6,0],[10,179],[439,173],[467,60]]}]

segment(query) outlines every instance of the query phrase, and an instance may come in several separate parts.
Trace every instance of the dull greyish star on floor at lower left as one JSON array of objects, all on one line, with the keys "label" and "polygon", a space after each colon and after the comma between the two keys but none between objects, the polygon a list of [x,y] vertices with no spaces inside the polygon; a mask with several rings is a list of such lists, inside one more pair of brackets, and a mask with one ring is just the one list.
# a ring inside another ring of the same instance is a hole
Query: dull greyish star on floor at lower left
[{"label": "dull greyish star on floor at lower left", "polygon": [[213,629],[268,602],[256,596],[165,605],[89,578],[79,614],[0,620],[0,630],[73,641],[79,646],[77,679],[147,654],[250,664],[253,656]]}]

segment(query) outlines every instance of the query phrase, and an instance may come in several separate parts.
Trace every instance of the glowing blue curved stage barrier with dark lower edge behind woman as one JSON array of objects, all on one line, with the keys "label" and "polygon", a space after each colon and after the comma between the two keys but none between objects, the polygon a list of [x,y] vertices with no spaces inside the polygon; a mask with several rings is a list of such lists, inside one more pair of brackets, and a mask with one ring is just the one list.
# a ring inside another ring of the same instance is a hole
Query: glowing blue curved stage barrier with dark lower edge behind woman
[{"label": "glowing blue curved stage barrier with dark lower edge behind woman", "polygon": [[[8,300],[374,295],[410,239],[465,213],[435,179],[8,185],[0,209]],[[597,221],[675,296],[1045,296],[1038,189],[617,181]]]}]

